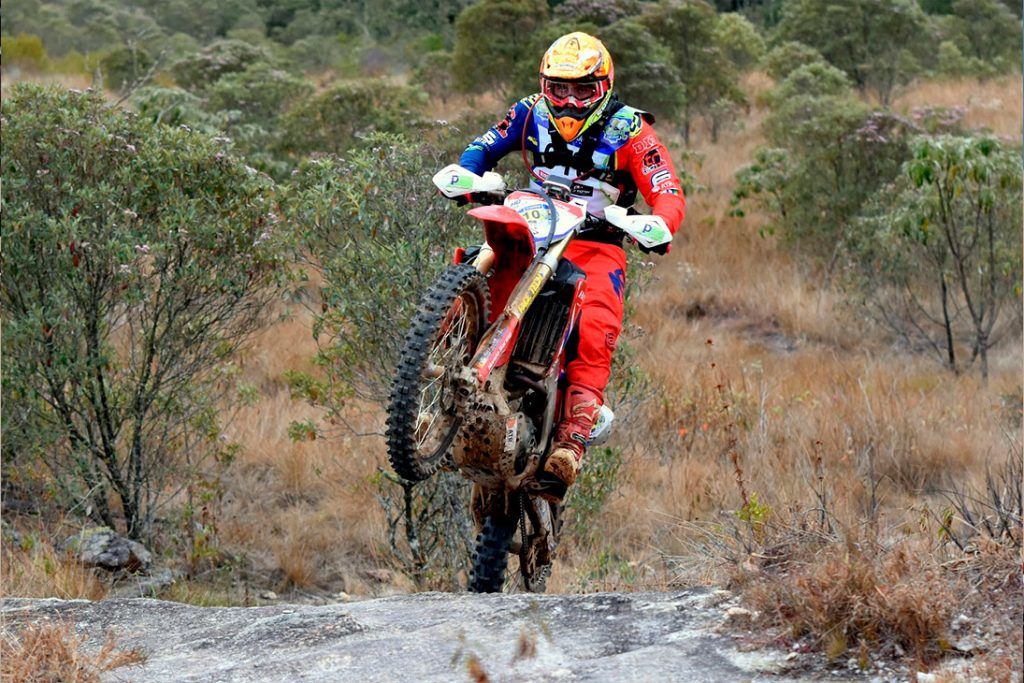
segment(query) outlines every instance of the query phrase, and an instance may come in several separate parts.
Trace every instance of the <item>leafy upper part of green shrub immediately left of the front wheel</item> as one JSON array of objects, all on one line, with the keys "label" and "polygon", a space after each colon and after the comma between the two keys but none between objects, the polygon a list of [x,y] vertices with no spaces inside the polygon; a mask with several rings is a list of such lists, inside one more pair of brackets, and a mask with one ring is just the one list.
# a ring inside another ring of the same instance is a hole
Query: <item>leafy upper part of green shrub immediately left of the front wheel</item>
[{"label": "leafy upper part of green shrub immediately left of the front wheel", "polygon": [[352,391],[385,395],[419,293],[474,234],[434,197],[449,159],[436,143],[374,134],[343,160],[301,164],[287,187],[283,209],[323,279],[313,334],[328,382],[306,397],[339,417]]}]

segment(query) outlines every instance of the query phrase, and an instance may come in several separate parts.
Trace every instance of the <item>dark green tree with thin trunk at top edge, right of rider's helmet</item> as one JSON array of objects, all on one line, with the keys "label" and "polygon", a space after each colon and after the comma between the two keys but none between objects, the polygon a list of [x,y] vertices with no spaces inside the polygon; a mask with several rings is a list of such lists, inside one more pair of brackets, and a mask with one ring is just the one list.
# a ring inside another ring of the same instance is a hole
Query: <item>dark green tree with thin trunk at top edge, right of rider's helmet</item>
[{"label": "dark green tree with thin trunk at top edge, right of rider's helmet", "polygon": [[718,15],[705,0],[662,0],[640,17],[652,36],[674,55],[683,84],[683,137],[690,141],[696,116],[711,114],[716,103],[745,103],[735,67],[715,39]]}]

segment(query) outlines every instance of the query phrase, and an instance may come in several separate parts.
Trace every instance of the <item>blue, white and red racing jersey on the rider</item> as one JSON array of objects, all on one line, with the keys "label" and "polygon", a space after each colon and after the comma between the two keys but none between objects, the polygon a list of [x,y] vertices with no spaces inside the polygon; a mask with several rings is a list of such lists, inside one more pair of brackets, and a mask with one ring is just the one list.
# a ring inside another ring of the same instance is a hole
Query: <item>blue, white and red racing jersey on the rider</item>
[{"label": "blue, white and red racing jersey on the rider", "polygon": [[[605,207],[631,207],[639,189],[651,213],[673,233],[686,213],[686,200],[669,152],[651,127],[654,118],[612,100],[605,115],[575,140],[564,141],[550,126],[547,101],[540,93],[513,104],[505,118],[470,142],[459,165],[482,174],[510,152],[525,150],[534,173],[572,181],[572,195],[587,210],[604,217]],[[603,124],[603,125],[601,125]],[[530,185],[539,188],[535,179]]]}]

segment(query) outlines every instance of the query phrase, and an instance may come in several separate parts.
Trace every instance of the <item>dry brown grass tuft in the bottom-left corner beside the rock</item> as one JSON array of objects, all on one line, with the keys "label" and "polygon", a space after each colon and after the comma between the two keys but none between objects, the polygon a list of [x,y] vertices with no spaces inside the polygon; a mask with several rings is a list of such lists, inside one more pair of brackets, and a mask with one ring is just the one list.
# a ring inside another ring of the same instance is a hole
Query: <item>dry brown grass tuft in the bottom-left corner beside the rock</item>
[{"label": "dry brown grass tuft in the bottom-left corner beside the rock", "polygon": [[69,623],[33,624],[0,638],[0,678],[9,683],[98,683],[104,672],[145,661],[136,649],[122,650],[108,634],[98,650]]}]

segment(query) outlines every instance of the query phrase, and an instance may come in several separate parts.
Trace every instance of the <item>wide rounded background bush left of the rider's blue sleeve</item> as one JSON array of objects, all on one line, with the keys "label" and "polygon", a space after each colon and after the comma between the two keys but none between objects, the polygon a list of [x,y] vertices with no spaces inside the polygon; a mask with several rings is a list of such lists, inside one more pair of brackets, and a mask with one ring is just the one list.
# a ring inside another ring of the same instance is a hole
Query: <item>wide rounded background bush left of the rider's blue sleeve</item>
[{"label": "wide rounded background bush left of the rider's blue sleeve", "polygon": [[291,158],[341,154],[372,132],[397,133],[419,122],[425,94],[384,81],[341,83],[301,101],[281,118],[278,151]]}]

